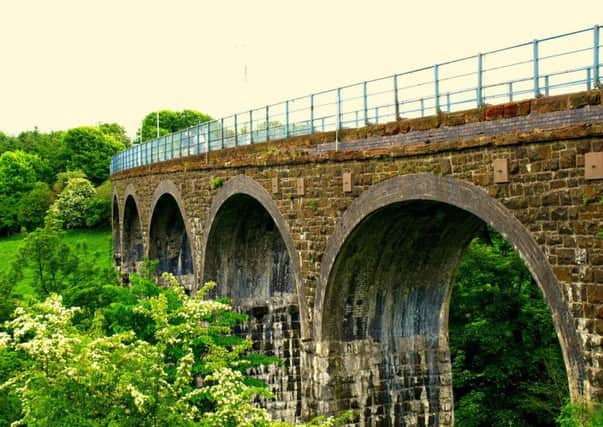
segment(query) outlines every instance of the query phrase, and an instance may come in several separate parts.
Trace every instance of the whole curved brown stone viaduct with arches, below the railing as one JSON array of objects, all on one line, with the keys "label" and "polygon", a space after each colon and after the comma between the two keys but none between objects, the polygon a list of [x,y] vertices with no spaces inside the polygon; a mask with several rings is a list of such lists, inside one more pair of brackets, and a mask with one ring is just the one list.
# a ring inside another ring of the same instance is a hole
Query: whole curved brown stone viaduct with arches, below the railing
[{"label": "whole curved brown stone viaduct with arches, below the railing", "polygon": [[[114,252],[250,314],[276,417],[454,423],[448,303],[489,224],[550,307],[573,399],[603,400],[602,92],[186,157],[113,175]],[[337,139],[337,140],[336,140]]]}]

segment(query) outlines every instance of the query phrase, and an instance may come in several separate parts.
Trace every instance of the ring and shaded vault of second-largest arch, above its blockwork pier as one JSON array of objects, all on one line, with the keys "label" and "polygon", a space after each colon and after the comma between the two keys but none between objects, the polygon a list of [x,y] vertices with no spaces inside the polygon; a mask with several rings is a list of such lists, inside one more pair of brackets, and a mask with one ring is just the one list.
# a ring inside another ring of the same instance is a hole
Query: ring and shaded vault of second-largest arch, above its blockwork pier
[{"label": "ring and shaded vault of second-largest arch, above its blockwork pier", "polygon": [[[287,223],[264,187],[244,175],[229,179],[214,197],[206,224],[201,245],[204,280],[216,280],[224,294],[234,297],[293,295],[306,336],[299,255]],[[242,257],[236,258],[235,252]],[[220,271],[221,266],[230,267]],[[242,266],[246,271],[239,271]],[[246,290],[251,288],[256,291]]]}]

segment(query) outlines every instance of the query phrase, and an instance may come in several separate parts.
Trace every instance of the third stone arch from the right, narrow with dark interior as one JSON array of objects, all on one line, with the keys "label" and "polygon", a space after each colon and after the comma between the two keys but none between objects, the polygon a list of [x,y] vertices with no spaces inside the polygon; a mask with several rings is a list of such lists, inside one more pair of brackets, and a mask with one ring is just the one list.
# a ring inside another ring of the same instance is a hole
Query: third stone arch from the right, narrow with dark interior
[{"label": "third stone arch from the right, narrow with dark interior", "polygon": [[180,190],[172,181],[159,183],[153,194],[147,235],[148,257],[159,261],[188,289],[194,286],[193,241]]}]

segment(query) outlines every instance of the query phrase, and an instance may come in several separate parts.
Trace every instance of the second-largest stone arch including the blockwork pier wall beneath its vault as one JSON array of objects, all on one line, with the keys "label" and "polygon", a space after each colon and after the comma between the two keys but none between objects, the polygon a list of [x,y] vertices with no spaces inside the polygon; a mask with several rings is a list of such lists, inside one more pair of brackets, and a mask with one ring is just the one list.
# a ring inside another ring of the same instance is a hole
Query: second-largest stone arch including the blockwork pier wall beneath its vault
[{"label": "second-largest stone arch including the blockwork pier wall beneath its vault", "polygon": [[253,372],[276,396],[263,405],[277,419],[300,418],[301,337],[307,329],[300,260],[289,227],[264,187],[243,175],[217,191],[206,224],[203,280],[215,280],[216,293],[249,315],[238,333],[253,341],[254,350],[283,360],[280,368]]}]

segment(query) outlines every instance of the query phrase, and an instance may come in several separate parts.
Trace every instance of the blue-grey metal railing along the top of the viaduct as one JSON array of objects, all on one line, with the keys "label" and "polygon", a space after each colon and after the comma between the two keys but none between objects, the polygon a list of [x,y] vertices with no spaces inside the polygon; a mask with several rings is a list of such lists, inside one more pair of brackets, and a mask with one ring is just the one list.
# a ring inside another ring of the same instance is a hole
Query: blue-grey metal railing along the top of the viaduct
[{"label": "blue-grey metal railing along the top of the viaduct", "polygon": [[266,105],[136,144],[111,173],[239,145],[601,87],[601,25]]}]

